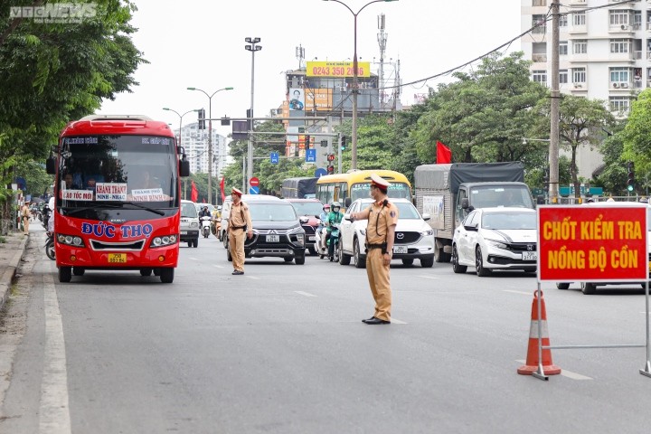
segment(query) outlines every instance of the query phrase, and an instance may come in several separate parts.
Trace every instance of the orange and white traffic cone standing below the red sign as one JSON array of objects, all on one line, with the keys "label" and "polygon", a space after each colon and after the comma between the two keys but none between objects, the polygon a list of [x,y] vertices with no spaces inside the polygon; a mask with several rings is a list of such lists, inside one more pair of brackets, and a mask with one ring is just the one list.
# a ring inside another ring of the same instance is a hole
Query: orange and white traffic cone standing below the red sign
[{"label": "orange and white traffic cone standing below the red sign", "polygon": [[[529,328],[529,349],[527,350],[527,360],[524,366],[518,368],[518,373],[522,375],[531,375],[538,371],[540,358],[538,353],[538,293],[541,300],[541,342],[542,346],[550,346],[549,330],[547,329],[547,312],[544,307],[544,297],[542,291],[537,290],[533,293],[532,305],[532,322]],[[561,368],[552,362],[552,350],[542,349],[542,371],[545,375],[556,375],[561,373]]]}]

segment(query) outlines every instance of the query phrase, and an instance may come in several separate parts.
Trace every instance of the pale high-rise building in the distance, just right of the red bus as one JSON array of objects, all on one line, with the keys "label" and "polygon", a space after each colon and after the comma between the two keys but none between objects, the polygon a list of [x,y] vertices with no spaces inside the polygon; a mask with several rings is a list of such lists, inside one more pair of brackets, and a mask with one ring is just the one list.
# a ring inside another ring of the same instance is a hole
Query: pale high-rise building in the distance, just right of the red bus
[{"label": "pale high-rise building in the distance, just right of the red bus", "polygon": [[[179,130],[175,130],[179,137]],[[190,172],[193,174],[208,173],[208,128],[199,129],[198,122],[185,125],[181,128],[181,146],[185,149],[185,156],[190,161]],[[232,163],[230,146],[223,137],[212,129],[212,176],[219,177],[224,169]]]}]

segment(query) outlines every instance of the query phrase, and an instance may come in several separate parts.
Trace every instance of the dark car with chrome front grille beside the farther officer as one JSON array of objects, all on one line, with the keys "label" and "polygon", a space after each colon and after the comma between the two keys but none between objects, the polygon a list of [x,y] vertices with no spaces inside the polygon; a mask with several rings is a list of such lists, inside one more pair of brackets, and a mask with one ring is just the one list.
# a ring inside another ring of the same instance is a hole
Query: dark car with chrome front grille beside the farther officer
[{"label": "dark car with chrome front grille beside the farther officer", "polygon": [[[259,197],[247,201],[253,237],[244,241],[246,258],[275,257],[305,264],[306,233],[294,207],[288,201],[276,197]],[[303,219],[307,222],[307,219]],[[226,241],[226,255],[232,260]]]}]

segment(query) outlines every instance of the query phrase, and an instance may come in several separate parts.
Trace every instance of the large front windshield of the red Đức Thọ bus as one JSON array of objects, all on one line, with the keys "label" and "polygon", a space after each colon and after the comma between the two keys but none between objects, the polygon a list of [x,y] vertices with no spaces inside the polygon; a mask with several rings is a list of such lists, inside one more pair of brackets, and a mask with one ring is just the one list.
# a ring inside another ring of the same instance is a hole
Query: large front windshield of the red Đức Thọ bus
[{"label": "large front windshield of the red \u0110\u1ee9c Th\u1ecd bus", "polygon": [[172,137],[98,135],[61,138],[58,204],[63,208],[178,206]]}]

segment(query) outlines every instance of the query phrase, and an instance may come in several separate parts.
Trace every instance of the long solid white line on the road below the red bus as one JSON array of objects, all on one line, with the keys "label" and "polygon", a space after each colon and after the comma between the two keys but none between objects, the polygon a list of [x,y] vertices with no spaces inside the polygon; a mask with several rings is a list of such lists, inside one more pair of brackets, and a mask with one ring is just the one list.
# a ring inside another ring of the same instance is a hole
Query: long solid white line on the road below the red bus
[{"label": "long solid white line on the road below the red bus", "polygon": [[45,312],[45,348],[41,403],[40,433],[71,433],[68,372],[66,371],[63,323],[52,273],[44,275],[43,298]]}]

